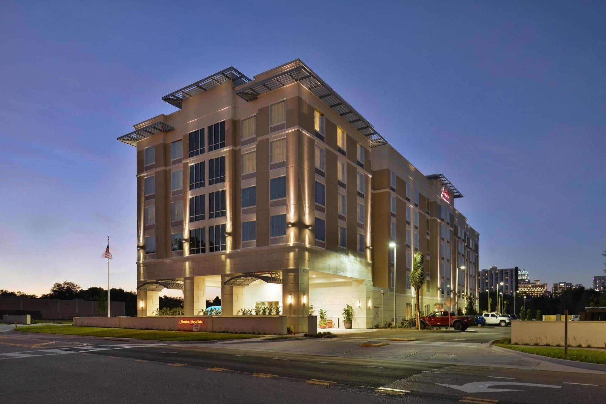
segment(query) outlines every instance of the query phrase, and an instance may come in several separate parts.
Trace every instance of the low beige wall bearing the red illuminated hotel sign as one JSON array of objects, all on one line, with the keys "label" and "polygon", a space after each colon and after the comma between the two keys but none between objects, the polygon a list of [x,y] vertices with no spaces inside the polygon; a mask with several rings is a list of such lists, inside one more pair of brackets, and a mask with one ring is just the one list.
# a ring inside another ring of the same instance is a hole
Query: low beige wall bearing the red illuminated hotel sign
[{"label": "low beige wall bearing the red illuminated hotel sign", "polygon": [[73,324],[85,327],[284,335],[286,334],[286,317],[287,316],[74,317]]}]

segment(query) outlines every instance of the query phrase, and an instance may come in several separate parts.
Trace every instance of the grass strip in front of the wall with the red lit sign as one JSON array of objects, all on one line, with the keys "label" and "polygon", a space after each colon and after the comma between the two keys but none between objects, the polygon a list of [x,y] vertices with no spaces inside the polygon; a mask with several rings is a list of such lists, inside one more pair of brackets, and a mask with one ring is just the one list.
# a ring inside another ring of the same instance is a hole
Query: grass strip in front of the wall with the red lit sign
[{"label": "grass strip in front of the wall with the red lit sign", "polygon": [[202,331],[156,331],[153,329],[78,327],[65,325],[38,325],[18,327],[26,333],[64,334],[71,336],[119,337],[151,339],[159,341],[209,341],[221,339],[245,339],[260,337],[255,334],[204,333]]}]

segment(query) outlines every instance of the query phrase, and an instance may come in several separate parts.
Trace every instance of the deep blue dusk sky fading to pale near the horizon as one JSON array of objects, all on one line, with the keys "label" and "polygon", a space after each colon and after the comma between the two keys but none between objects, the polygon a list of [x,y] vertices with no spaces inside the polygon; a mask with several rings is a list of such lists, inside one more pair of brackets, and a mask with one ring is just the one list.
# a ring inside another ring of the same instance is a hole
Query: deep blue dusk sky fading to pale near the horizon
[{"label": "deep blue dusk sky fading to pale near the horizon", "polygon": [[[370,7],[368,4],[372,4]],[[604,274],[606,3],[2,2],[0,289],[136,289],[135,148],[165,94],[301,58],[480,233],[480,269]]]}]

